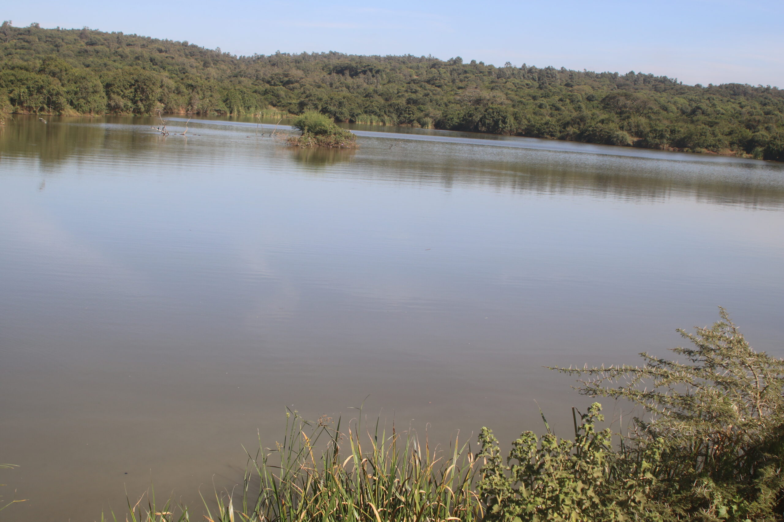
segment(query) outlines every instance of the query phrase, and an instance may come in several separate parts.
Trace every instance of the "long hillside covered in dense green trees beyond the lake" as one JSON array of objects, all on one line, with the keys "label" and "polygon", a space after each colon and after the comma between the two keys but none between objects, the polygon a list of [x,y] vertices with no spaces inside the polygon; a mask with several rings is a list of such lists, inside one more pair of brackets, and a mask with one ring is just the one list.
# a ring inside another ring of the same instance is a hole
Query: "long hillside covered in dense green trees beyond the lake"
[{"label": "long hillside covered in dense green trees beyond the lake", "polygon": [[233,56],[187,41],[0,27],[3,113],[318,110],[405,124],[784,160],[784,91],[339,52]]}]

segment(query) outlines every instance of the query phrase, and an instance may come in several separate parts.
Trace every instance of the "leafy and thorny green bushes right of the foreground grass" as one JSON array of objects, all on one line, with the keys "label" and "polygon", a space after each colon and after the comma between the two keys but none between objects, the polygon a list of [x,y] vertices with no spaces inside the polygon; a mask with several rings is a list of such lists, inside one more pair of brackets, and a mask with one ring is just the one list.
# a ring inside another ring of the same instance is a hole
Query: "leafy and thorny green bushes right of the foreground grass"
[{"label": "leafy and thorny green bushes right of the foreground grass", "polygon": [[679,330],[686,362],[561,369],[587,376],[581,393],[641,409],[618,447],[594,430],[598,403],[575,419],[574,442],[527,432],[506,463],[483,429],[488,520],[784,520],[784,361],[753,351],[720,312]]}]

